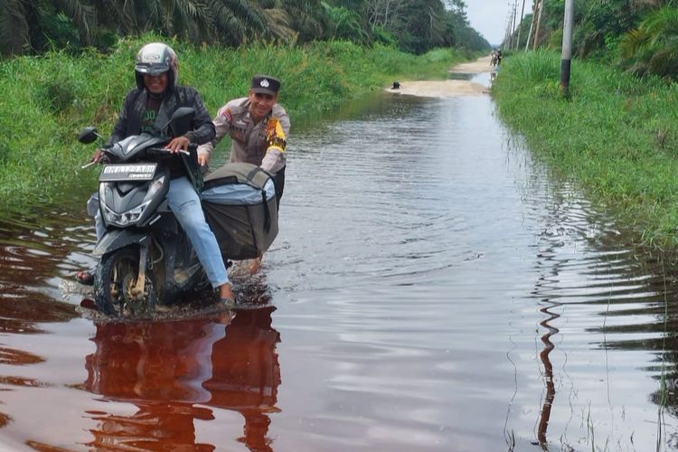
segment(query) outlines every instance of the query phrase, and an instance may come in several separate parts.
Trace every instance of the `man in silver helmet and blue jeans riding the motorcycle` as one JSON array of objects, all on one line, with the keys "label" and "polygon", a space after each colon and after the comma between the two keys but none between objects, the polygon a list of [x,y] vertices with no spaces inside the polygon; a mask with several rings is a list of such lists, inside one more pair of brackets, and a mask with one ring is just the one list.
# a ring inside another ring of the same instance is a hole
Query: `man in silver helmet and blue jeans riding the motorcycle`
[{"label": "man in silver helmet and blue jeans riding the motorcycle", "polygon": [[[217,240],[205,221],[198,195],[198,190],[202,188],[202,174],[195,155],[191,157],[182,152],[186,151],[189,144],[201,145],[212,140],[215,136],[214,125],[200,94],[193,88],[177,85],[178,75],[176,54],[169,46],[153,42],[142,47],[137,53],[135,65],[137,88],[127,93],[108,145],[142,132],[153,132],[165,124],[177,108],[195,109],[193,130],[182,137],[172,138],[165,145],[174,154],[169,163],[171,183],[167,200],[191,240],[212,287],[219,288],[221,301],[231,303],[233,294],[226,266]],[[102,158],[103,153],[98,150],[91,161],[100,162]],[[101,239],[105,230],[99,211],[95,219],[97,237]],[[76,278],[83,284],[92,284],[94,279],[88,271],[80,271]]]}]

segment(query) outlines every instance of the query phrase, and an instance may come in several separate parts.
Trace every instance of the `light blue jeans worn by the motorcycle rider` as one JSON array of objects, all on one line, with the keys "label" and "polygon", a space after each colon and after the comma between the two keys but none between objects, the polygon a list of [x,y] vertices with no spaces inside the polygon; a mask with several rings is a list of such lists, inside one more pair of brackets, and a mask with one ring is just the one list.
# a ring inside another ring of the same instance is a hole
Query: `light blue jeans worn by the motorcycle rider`
[{"label": "light blue jeans worn by the motorcycle rider", "polygon": [[[193,250],[202,264],[202,268],[207,273],[212,287],[220,287],[229,282],[229,276],[226,273],[226,266],[221,259],[219,244],[210,229],[210,225],[205,220],[202,212],[200,197],[195,192],[193,184],[188,177],[178,177],[170,181],[169,192],[167,193],[169,208],[174,213],[176,220],[182,225],[188,240],[191,240]],[[101,240],[106,228],[101,221],[101,213],[97,209],[94,217],[97,229],[97,240]]]}]

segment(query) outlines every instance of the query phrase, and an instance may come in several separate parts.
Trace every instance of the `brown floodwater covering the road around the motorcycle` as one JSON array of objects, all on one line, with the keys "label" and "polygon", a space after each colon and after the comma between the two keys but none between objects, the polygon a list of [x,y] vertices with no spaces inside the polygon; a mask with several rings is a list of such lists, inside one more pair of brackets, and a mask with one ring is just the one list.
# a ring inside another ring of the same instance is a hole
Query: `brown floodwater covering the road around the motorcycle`
[{"label": "brown floodwater covering the road around the motorcycle", "polygon": [[678,450],[674,264],[489,97],[387,93],[292,137],[278,239],[231,273],[248,309],[95,324],[92,187],[5,212],[0,445]]}]

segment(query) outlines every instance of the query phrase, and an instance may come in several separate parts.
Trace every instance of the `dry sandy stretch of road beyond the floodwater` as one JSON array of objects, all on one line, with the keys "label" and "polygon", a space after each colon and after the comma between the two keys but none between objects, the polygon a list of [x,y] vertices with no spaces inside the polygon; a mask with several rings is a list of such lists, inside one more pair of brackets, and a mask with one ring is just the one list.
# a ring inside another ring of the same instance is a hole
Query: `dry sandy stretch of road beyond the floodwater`
[{"label": "dry sandy stretch of road beyond the floodwater", "polygon": [[[479,74],[493,72],[490,57],[479,58],[476,61],[458,64],[449,72],[461,74]],[[400,89],[386,89],[396,94],[421,96],[427,98],[451,98],[456,96],[485,96],[490,89],[480,83],[468,80],[412,80],[400,81]]]}]

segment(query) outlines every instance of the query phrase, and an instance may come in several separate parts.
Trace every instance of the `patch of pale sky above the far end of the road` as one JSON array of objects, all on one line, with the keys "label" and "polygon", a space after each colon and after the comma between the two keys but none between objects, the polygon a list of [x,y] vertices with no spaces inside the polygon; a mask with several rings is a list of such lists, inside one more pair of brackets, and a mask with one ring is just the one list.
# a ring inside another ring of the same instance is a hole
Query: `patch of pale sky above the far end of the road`
[{"label": "patch of pale sky above the far end of the road", "polygon": [[[525,1],[524,14],[532,13],[532,0]],[[468,23],[490,42],[500,44],[504,41],[509,14],[513,12],[515,0],[466,0],[466,16]],[[520,23],[523,0],[517,0],[516,24]]]}]

